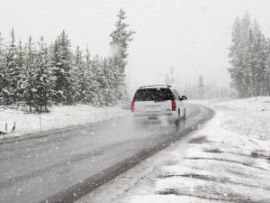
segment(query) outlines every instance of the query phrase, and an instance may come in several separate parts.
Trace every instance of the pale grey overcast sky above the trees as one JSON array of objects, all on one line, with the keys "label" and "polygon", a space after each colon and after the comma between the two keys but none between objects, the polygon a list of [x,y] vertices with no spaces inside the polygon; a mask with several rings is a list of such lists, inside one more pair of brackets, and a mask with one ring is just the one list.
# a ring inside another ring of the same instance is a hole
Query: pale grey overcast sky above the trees
[{"label": "pale grey overcast sky above the trees", "polygon": [[[270,1],[259,0],[0,0],[0,32],[9,41],[37,42],[44,36],[53,42],[62,30],[72,46],[86,44],[93,55],[111,54],[109,35],[122,7],[130,29],[127,73],[132,87],[164,84],[165,73],[175,68],[178,85],[205,82],[229,86],[227,68],[231,27],[246,11],[257,18],[270,37]],[[176,84],[175,84],[176,86]]]}]

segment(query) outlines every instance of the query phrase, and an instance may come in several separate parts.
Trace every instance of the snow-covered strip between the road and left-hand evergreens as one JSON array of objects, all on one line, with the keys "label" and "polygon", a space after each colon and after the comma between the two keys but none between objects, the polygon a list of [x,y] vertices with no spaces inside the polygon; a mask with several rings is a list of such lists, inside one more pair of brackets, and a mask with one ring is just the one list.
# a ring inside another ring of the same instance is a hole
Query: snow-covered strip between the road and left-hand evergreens
[{"label": "snow-covered strip between the road and left-hand evergreens", "polygon": [[[48,130],[64,128],[73,125],[85,125],[114,117],[130,114],[129,110],[119,107],[96,108],[93,106],[52,106],[48,114],[25,114],[15,108],[0,106],[0,139],[23,136],[25,134],[40,133]],[[15,131],[12,128],[15,123]]]}]

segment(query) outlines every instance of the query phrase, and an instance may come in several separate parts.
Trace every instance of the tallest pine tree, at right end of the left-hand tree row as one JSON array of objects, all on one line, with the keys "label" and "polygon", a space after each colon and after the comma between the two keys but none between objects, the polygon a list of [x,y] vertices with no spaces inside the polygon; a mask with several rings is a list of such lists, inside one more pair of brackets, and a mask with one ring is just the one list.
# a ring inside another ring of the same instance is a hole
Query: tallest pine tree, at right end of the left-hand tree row
[{"label": "tallest pine tree, at right end of the left-hand tree row", "polygon": [[127,31],[129,25],[124,23],[126,19],[125,12],[121,8],[119,14],[117,14],[118,21],[115,23],[115,30],[112,31],[110,36],[112,37],[111,47],[112,47],[112,58],[114,66],[117,67],[117,98],[119,100],[124,99],[127,96],[127,89],[125,85],[125,68],[128,63],[128,48],[129,42],[133,39],[131,35],[135,32]]}]

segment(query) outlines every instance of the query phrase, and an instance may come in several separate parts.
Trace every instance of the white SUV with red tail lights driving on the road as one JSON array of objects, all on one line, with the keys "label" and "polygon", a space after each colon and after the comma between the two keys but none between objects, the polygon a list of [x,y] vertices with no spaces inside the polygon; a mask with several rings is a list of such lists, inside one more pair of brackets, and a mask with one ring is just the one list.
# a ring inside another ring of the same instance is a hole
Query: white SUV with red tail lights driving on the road
[{"label": "white SUV with red tail lights driving on the road", "polygon": [[131,112],[134,116],[157,117],[166,115],[175,119],[185,118],[185,107],[177,91],[171,86],[143,86],[140,87],[131,102]]}]

